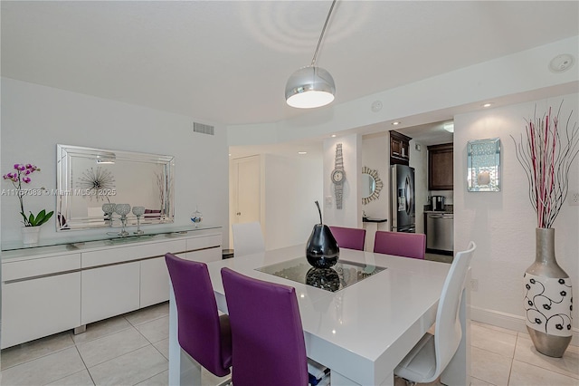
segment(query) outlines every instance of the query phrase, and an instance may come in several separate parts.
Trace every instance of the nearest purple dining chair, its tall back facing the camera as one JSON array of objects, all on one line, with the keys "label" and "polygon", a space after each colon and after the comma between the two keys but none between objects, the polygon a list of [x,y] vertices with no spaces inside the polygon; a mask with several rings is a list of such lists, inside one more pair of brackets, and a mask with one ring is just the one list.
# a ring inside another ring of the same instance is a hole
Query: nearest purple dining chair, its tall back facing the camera
[{"label": "nearest purple dining chair, its tall back facing the camera", "polygon": [[235,386],[308,385],[296,290],[221,270],[232,325]]}]

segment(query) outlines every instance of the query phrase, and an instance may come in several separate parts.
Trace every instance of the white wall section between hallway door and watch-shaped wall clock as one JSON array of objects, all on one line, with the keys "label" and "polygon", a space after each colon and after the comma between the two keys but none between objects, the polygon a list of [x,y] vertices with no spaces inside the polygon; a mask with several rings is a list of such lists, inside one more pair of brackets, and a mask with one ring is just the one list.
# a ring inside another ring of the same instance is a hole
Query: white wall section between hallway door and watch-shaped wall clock
[{"label": "white wall section between hallway door and watch-shaped wall clock", "polygon": [[319,223],[323,160],[265,155],[265,247],[304,244]]}]

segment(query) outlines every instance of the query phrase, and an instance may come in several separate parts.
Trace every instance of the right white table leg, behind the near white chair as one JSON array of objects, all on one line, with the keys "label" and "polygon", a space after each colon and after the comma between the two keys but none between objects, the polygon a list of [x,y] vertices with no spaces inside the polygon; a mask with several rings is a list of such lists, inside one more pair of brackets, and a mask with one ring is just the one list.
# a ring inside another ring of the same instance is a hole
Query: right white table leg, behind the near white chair
[{"label": "right white table leg, behind the near white chair", "polygon": [[[470,270],[466,283],[470,283]],[[467,304],[470,304],[470,291],[463,288],[459,309],[462,339],[451,362],[441,373],[441,382],[445,385],[470,385],[470,308]]]}]

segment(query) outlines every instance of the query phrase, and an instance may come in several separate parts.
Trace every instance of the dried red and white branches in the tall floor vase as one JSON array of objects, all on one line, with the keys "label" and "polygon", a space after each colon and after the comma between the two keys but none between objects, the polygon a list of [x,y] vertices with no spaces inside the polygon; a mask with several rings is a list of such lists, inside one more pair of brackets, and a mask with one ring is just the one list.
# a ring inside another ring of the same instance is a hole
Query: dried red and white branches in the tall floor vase
[{"label": "dried red and white branches in the tall floor vase", "polygon": [[[577,122],[570,123],[573,111],[569,114],[565,130],[561,130],[559,113],[553,116],[551,108],[541,118],[527,121],[526,138],[521,133],[520,141],[511,135],[515,142],[518,162],[528,179],[528,195],[535,208],[537,227],[552,227],[559,214],[569,190],[569,170],[579,153],[579,127]],[[560,132],[562,131],[562,132]]]}]

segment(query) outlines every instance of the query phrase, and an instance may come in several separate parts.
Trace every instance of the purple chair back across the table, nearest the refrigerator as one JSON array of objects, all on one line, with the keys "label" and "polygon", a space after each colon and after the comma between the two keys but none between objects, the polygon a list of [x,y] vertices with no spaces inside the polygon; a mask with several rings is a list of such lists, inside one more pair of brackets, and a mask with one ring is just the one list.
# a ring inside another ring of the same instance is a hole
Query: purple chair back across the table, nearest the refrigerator
[{"label": "purple chair back across the table, nearest the refrigerator", "polygon": [[374,252],[385,255],[424,259],[426,235],[422,233],[377,230],[374,239]]}]

